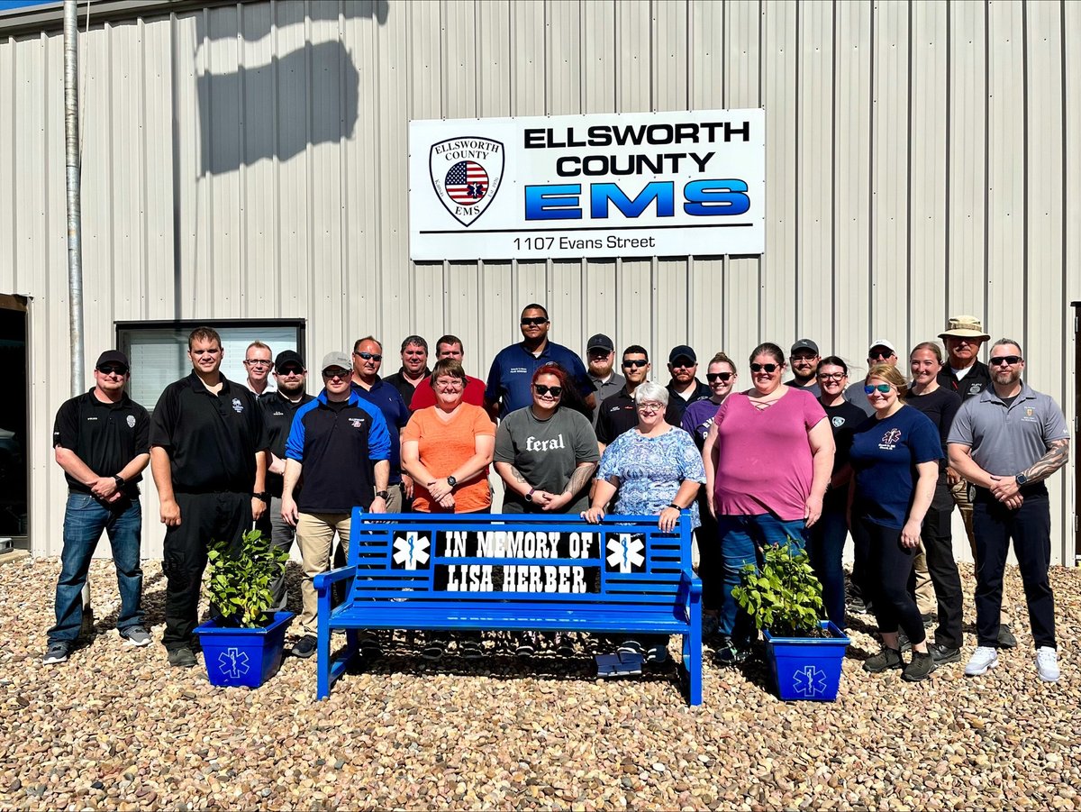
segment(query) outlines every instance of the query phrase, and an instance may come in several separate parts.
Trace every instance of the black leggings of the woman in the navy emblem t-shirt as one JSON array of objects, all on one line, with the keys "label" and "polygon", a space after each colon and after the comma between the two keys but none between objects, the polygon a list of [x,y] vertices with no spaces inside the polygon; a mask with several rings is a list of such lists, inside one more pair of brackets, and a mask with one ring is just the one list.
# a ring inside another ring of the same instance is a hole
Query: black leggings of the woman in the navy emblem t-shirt
[{"label": "black leggings of the woman in the navy emblem t-shirt", "polygon": [[913,645],[923,642],[923,621],[908,591],[916,550],[902,546],[899,528],[886,528],[863,516],[853,516],[852,524],[857,546],[863,543],[867,549],[867,583],[879,631],[894,633],[900,626]]}]

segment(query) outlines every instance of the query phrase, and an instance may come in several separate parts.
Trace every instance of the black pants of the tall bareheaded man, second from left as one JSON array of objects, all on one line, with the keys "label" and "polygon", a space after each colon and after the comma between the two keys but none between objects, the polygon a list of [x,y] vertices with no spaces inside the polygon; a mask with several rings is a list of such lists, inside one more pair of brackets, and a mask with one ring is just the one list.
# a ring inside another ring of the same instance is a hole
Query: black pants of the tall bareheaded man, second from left
[{"label": "black pants of the tall bareheaded man, second from left", "polygon": [[199,620],[199,588],[211,542],[229,541],[239,548],[252,528],[250,493],[177,493],[181,523],[165,529],[162,569],[165,586],[165,634],[172,651],[191,644]]}]

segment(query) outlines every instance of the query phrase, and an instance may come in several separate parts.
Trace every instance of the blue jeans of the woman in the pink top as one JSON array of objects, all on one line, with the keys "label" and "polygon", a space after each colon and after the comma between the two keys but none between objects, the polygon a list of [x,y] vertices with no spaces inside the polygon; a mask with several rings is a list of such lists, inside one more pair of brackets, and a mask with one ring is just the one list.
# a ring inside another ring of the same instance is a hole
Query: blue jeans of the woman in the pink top
[{"label": "blue jeans of the woman in the pink top", "polygon": [[721,540],[724,588],[721,595],[721,614],[718,630],[731,637],[737,648],[746,647],[751,640],[750,616],[739,609],[732,589],[739,586],[739,573],[744,567],[761,565],[759,548],[766,544],[787,544],[795,555],[803,549],[806,528],[803,519],[782,521],[773,514],[759,516],[718,516],[717,530]]}]

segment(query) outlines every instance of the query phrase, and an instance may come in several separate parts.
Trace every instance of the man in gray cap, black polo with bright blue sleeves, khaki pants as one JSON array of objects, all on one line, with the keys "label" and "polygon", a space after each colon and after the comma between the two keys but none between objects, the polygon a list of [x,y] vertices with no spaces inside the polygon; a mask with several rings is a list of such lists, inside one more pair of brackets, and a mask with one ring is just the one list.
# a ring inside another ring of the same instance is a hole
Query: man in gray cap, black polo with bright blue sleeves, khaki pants
[{"label": "man in gray cap, black polo with bright blue sleeves, khaki pants", "polygon": [[[296,528],[304,559],[299,618],[304,637],[293,647],[298,657],[316,652],[318,599],[312,582],[330,568],[334,532],[348,548],[353,507],[373,514],[387,511],[387,422],[378,409],[352,390],[351,369],[345,352],[329,352],[323,358],[323,390],[297,410],[285,442],[281,516]],[[302,474],[304,488],[294,498]]]}]

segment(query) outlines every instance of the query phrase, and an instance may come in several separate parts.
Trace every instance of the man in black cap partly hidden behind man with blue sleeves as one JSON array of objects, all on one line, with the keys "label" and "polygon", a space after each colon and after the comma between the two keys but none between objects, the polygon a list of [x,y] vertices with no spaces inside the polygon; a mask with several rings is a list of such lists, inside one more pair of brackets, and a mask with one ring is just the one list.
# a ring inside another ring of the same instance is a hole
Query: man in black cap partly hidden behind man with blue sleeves
[{"label": "man in black cap partly hidden behind man with blue sleeves", "polygon": [[[264,535],[270,536],[270,543],[283,550],[290,550],[296,530],[281,518],[282,476],[285,474],[285,440],[293,427],[293,416],[296,410],[305,403],[315,400],[304,388],[308,380],[308,371],[304,367],[301,354],[286,349],[278,354],[273,363],[273,376],[277,389],[268,391],[259,398],[263,409],[263,421],[267,428],[267,493],[270,494],[270,506],[255,525]],[[282,611],[289,602],[285,594],[285,574],[282,573],[271,586],[273,590],[275,611]]]}]

